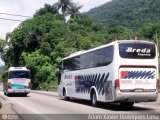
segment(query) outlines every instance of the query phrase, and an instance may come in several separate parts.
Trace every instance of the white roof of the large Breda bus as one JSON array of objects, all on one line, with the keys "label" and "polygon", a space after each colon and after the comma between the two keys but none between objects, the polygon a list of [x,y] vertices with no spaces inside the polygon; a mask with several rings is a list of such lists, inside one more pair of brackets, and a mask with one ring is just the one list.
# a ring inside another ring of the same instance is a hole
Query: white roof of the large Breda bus
[{"label": "white roof of the large Breda bus", "polygon": [[75,56],[78,56],[78,55],[81,55],[81,54],[84,54],[84,53],[87,53],[87,52],[98,50],[98,49],[101,49],[101,48],[104,48],[104,47],[107,47],[107,46],[111,46],[111,45],[114,45],[114,44],[118,44],[118,43],[149,43],[149,44],[154,44],[154,42],[151,42],[151,41],[148,41],[148,40],[116,40],[116,41],[113,41],[113,42],[105,44],[105,45],[101,45],[101,46],[96,47],[96,48],[92,48],[92,49],[89,49],[89,50],[82,50],[82,51],[72,53],[69,56],[63,58],[62,60],[72,58],[72,57],[75,57]]}]

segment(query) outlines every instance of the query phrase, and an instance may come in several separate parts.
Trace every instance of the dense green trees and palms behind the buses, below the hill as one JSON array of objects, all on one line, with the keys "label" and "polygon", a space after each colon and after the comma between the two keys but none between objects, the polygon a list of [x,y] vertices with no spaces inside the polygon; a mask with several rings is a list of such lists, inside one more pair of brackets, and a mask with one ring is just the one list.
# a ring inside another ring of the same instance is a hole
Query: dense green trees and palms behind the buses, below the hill
[{"label": "dense green trees and palms behind the buses, below the hill", "polygon": [[[60,0],[46,4],[34,17],[22,22],[6,40],[0,40],[0,53],[7,67],[26,66],[31,70],[33,89],[54,89],[57,78],[54,71],[60,60],[69,54],[86,50],[115,39],[131,39],[132,30],[123,26],[107,29],[79,12],[81,6],[68,0],[67,7]],[[67,1],[67,0],[66,0]],[[58,11],[65,7],[60,14]],[[66,22],[66,15],[71,15]],[[160,23],[145,26],[140,38],[156,40]],[[158,37],[157,37],[158,38]]]}]

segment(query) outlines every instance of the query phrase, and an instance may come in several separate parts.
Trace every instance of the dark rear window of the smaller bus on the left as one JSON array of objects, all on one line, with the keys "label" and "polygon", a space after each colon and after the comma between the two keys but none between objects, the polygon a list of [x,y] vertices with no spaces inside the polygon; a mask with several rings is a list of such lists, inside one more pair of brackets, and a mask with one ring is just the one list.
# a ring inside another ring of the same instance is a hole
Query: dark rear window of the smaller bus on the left
[{"label": "dark rear window of the smaller bus on the left", "polygon": [[12,78],[29,78],[29,71],[10,71],[9,79]]}]

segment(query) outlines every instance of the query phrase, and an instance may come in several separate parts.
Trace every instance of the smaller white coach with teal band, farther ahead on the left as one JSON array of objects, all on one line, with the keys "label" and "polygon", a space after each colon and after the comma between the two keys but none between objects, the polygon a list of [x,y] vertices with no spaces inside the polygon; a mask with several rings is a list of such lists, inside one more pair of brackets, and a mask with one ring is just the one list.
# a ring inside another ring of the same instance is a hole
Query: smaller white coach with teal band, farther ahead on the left
[{"label": "smaller white coach with teal band, farther ahead on the left", "polygon": [[26,67],[10,67],[3,75],[3,91],[11,94],[27,96],[31,90],[30,71]]}]

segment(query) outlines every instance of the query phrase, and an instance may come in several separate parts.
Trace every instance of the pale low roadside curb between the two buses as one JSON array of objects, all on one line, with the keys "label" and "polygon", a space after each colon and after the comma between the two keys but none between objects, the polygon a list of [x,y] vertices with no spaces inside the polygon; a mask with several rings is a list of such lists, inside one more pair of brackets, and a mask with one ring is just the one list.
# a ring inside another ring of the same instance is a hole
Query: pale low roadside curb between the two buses
[{"label": "pale low roadside curb between the two buses", "polygon": [[54,96],[58,97],[58,93],[55,91],[37,91],[37,90],[31,90],[31,93],[37,93],[37,94],[43,94],[47,96]]}]

